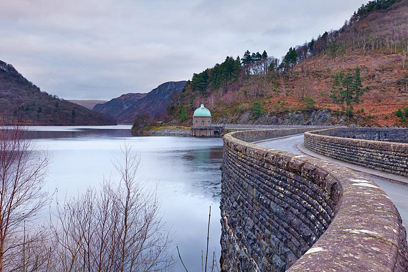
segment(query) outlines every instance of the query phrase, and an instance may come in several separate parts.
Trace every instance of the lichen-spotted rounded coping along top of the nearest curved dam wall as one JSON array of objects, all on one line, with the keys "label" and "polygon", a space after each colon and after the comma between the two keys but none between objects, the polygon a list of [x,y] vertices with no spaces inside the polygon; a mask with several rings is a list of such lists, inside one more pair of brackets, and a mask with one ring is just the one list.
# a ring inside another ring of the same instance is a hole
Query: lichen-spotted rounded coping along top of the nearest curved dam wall
[{"label": "lichen-spotted rounded coping along top of the nearest curved dam wall", "polygon": [[247,133],[226,134],[224,145],[313,180],[336,204],[327,230],[288,271],[408,270],[405,227],[375,182],[334,163],[238,139]]}]

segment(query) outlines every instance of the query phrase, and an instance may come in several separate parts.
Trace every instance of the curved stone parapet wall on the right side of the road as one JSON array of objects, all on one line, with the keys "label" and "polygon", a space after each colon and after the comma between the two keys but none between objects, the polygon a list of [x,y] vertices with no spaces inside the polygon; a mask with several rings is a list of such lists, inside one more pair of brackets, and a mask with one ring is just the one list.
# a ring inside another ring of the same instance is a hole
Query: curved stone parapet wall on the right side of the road
[{"label": "curved stone parapet wall on the right side of the road", "polygon": [[408,176],[406,142],[408,129],[397,128],[339,128],[304,134],[304,146],[314,152],[402,176]]}]

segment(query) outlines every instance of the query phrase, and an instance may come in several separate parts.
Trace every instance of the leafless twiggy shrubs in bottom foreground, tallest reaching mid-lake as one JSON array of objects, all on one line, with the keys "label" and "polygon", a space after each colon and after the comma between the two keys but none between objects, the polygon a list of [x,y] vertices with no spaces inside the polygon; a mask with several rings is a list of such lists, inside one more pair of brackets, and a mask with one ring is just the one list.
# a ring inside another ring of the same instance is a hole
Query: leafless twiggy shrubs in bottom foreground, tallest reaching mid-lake
[{"label": "leafless twiggy shrubs in bottom foreground, tallest reaching mid-lake", "polygon": [[140,158],[127,145],[114,165],[121,180],[104,181],[78,199],[57,204],[51,228],[64,271],[164,271],[172,268],[170,233],[155,190],[138,175]]}]

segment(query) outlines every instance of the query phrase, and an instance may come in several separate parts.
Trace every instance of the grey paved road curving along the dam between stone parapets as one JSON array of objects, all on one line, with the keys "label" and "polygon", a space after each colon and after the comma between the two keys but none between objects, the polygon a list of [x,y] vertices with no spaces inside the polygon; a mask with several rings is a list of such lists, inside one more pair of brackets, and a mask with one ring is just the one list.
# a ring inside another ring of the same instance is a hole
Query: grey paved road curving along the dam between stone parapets
[{"label": "grey paved road curving along the dam between stone parapets", "polygon": [[[269,147],[271,149],[277,149],[282,151],[289,151],[295,154],[307,154],[313,157],[318,157],[330,162],[334,162],[343,166],[351,166],[354,170],[361,172],[361,175],[367,179],[373,180],[377,183],[387,194],[390,196],[391,201],[397,207],[399,213],[401,214],[402,224],[407,226],[408,224],[408,185],[400,184],[390,180],[398,180],[399,182],[406,181],[407,179],[402,176],[390,175],[381,171],[376,171],[371,168],[363,166],[353,166],[349,163],[345,163],[340,160],[325,157],[320,154],[316,154],[312,151],[305,149],[303,146],[303,134],[276,138],[271,140],[266,140],[262,142],[255,142],[258,145]],[[373,175],[375,176],[373,176]],[[386,178],[385,178],[386,177]]]}]

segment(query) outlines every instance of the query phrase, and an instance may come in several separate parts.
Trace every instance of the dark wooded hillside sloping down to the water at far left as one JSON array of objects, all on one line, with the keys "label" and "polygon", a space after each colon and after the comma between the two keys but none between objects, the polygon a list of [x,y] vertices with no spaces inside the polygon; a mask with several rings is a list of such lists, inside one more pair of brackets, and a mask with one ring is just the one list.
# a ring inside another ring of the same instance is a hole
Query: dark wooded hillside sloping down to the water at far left
[{"label": "dark wooded hillside sloping down to the water at far left", "polygon": [[23,125],[116,125],[113,117],[42,92],[0,61],[0,122]]}]

